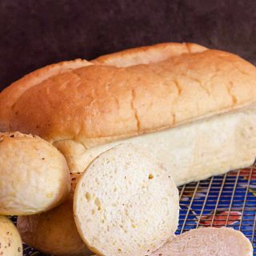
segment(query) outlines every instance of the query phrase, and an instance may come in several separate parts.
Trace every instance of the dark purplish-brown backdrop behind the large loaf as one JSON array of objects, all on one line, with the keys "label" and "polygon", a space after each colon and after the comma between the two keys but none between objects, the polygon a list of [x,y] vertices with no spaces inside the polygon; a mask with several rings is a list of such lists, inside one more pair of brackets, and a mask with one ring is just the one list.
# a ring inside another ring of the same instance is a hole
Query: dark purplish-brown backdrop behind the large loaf
[{"label": "dark purplish-brown backdrop behind the large loaf", "polygon": [[53,62],[198,42],[256,64],[255,0],[0,0],[0,90]]}]

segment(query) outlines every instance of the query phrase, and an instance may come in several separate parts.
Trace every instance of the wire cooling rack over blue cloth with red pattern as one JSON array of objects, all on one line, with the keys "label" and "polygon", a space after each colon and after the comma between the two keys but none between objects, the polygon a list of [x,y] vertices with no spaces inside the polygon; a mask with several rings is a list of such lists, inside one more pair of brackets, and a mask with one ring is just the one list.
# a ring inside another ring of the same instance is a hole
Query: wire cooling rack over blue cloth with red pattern
[{"label": "wire cooling rack over blue cloth with red pattern", "polygon": [[[201,182],[180,186],[180,215],[176,234],[206,226],[228,226],[250,239],[256,255],[256,164]],[[43,256],[24,246],[25,256]]]}]

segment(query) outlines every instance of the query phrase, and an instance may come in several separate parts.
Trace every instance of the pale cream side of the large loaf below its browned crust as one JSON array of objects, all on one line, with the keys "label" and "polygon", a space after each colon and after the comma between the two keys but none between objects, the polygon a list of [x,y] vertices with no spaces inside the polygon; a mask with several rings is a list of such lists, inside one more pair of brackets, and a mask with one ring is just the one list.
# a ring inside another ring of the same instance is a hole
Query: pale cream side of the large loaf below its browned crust
[{"label": "pale cream side of the large loaf below its browned crust", "polygon": [[95,146],[55,142],[70,170],[84,166],[119,143],[142,145],[164,163],[177,186],[250,166],[256,156],[256,109],[217,115],[204,121]]}]

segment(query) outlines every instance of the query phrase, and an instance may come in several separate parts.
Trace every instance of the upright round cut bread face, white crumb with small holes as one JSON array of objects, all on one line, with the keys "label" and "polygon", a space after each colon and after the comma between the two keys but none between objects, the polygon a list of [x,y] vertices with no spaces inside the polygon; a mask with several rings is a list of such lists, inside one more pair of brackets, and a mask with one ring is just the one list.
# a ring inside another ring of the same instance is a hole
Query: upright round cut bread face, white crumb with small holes
[{"label": "upright round cut bread face, white crumb with small holes", "polygon": [[178,189],[150,154],[122,144],[95,158],[79,178],[74,219],[99,255],[148,255],[178,226]]}]

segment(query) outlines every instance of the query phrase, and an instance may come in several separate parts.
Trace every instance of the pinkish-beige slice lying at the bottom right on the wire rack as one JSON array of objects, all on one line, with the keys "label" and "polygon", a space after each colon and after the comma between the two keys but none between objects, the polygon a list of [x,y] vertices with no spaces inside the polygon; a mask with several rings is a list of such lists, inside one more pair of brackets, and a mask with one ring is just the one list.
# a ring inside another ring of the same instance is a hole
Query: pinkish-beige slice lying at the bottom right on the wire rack
[{"label": "pinkish-beige slice lying at the bottom right on the wire rack", "polygon": [[242,232],[208,227],[171,238],[151,256],[253,256],[253,246]]}]

